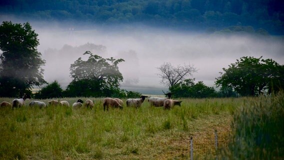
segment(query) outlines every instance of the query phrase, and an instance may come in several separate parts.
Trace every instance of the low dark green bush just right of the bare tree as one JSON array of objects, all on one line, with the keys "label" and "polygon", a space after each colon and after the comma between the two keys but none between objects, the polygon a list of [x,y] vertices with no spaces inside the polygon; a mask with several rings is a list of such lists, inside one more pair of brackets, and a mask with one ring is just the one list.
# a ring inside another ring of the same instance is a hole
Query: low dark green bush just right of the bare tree
[{"label": "low dark green bush just right of the bare tree", "polygon": [[216,97],[217,93],[213,87],[206,86],[202,81],[193,82],[194,79],[185,79],[169,88],[173,97]]}]

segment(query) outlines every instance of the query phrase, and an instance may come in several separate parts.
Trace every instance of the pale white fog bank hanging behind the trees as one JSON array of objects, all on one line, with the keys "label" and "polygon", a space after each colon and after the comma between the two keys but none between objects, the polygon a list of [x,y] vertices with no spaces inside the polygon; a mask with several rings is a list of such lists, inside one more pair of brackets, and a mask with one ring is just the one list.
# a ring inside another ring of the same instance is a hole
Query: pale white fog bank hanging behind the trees
[{"label": "pale white fog bank hanging behind the trees", "polygon": [[[123,58],[119,70],[121,87],[127,90],[161,93],[167,87],[160,83],[157,67],[191,64],[197,69],[188,78],[214,86],[222,68],[242,56],[263,56],[284,64],[283,38],[245,34],[206,34],[147,26],[77,29],[56,25],[38,27],[31,24],[40,45],[38,51],[46,60],[44,79],[57,80],[63,88],[71,81],[69,67],[86,49],[103,58]],[[94,45],[95,44],[95,45]]]}]

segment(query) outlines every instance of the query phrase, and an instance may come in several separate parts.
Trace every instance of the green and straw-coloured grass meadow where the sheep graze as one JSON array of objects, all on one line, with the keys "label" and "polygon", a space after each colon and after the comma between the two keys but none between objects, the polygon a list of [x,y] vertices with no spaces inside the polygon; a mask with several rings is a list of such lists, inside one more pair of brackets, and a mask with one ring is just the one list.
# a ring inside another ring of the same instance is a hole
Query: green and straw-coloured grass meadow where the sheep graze
[{"label": "green and straw-coloured grass meadow where the sheep graze", "polygon": [[219,146],[227,148],[235,110],[256,98],[183,98],[171,110],[145,100],[137,109],[109,111],[102,98],[91,99],[93,109],[30,108],[29,99],[24,107],[0,108],[0,159],[188,159],[190,137],[194,157],[204,158],[214,148],[208,139],[215,129]]}]

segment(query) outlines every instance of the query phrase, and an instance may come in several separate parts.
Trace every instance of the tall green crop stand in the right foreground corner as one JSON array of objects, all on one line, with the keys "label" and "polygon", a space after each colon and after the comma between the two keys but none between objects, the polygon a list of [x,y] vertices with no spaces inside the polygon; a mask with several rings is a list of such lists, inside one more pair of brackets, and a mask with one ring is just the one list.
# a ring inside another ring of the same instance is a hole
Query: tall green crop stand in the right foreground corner
[{"label": "tall green crop stand in the right foreground corner", "polygon": [[229,159],[284,157],[284,93],[247,101],[233,116]]}]

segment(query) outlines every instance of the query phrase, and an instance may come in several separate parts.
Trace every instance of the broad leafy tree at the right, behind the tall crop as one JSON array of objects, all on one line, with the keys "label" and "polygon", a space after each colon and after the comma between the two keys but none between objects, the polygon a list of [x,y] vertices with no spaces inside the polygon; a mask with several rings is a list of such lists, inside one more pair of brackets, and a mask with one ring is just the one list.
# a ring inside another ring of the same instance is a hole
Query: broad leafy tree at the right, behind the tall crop
[{"label": "broad leafy tree at the right, behind the tall crop", "polygon": [[272,90],[283,88],[283,65],[279,65],[272,59],[254,57],[241,57],[235,63],[231,63],[224,73],[216,78],[215,84],[224,88],[231,87],[242,96],[253,96]]}]

